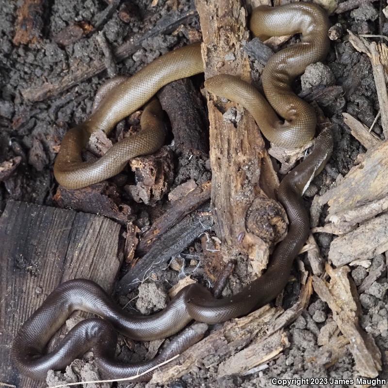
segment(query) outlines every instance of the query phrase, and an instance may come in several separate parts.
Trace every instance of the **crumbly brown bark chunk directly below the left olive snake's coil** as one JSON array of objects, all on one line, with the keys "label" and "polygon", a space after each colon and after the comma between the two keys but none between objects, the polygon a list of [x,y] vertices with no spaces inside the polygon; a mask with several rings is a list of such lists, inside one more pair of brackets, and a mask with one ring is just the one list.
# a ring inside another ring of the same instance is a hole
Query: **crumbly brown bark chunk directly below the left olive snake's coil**
[{"label": "crumbly brown bark chunk directly below the left olive snake's coil", "polygon": [[124,189],[136,202],[155,204],[174,181],[173,154],[166,147],[153,155],[133,158],[129,165],[135,173],[136,185],[126,185]]}]

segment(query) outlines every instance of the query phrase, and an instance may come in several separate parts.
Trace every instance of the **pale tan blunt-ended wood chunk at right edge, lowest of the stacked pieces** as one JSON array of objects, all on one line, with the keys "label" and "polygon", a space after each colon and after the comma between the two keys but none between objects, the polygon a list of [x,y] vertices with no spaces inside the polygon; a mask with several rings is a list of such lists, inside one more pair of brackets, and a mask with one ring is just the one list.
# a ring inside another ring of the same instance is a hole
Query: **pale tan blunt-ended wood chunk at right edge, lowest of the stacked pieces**
[{"label": "pale tan blunt-ended wood chunk at right edge, lowest of the stacked pieces", "polygon": [[388,214],[372,218],[330,244],[329,259],[336,266],[356,259],[372,259],[388,250]]}]

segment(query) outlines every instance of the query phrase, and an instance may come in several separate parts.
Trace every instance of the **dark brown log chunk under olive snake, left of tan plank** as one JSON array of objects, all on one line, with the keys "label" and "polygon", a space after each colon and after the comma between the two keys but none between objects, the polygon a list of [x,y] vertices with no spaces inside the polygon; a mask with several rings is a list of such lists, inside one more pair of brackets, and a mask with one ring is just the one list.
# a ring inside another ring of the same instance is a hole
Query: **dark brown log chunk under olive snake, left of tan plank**
[{"label": "dark brown log chunk under olive snake, left of tan plank", "polygon": [[185,151],[194,155],[209,154],[208,113],[193,82],[187,78],[171,82],[162,88],[158,97],[170,119],[178,154]]}]

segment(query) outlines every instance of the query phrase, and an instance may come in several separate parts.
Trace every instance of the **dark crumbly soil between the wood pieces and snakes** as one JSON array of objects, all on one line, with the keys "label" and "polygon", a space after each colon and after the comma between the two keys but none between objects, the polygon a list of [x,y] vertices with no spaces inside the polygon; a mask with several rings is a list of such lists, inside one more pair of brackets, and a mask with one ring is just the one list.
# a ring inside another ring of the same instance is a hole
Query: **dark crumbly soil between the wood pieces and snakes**
[{"label": "dark crumbly soil between the wood pieces and snakes", "polygon": [[[177,7],[185,9],[193,5],[190,4],[190,0],[159,0],[155,6],[150,4],[150,0],[131,2],[126,21],[119,18],[118,12],[113,13],[102,28],[112,48],[118,47],[130,37],[139,39],[142,33],[152,28],[171,10]],[[21,94],[22,90],[32,85],[38,86],[46,79],[60,80],[80,63],[92,65],[94,61],[103,59],[96,34],[81,38],[65,47],[55,43],[54,38],[65,27],[75,22],[93,23],[94,17],[104,10],[107,4],[103,0],[49,1],[43,16],[45,23],[42,39],[38,39],[33,44],[15,46],[13,37],[18,5],[19,2],[2,0],[0,9],[0,163],[17,156],[21,157],[15,172],[0,183],[0,210],[7,200],[57,206],[53,200],[57,184],[53,177],[52,165],[61,139],[67,129],[88,117],[96,91],[107,79],[107,74],[103,72],[70,88],[58,97],[35,103],[25,100]],[[379,29],[378,3],[366,3],[353,11],[333,16],[331,21],[333,24],[340,23],[344,32],[346,29],[357,33],[388,32],[388,23],[384,18]],[[189,32],[197,30],[199,30],[199,22],[196,19],[191,25],[185,25],[174,33],[146,40],[143,42],[142,49],[117,64],[118,73],[131,75],[137,72],[163,53],[188,43]],[[254,61],[252,69],[253,76],[256,78],[262,70],[262,65]],[[335,124],[335,147],[333,156],[323,173],[313,180],[311,195],[326,191],[339,175],[347,174],[355,164],[358,154],[365,152],[363,146],[351,136],[350,129],[343,123],[341,113],[348,112],[370,127],[379,110],[370,60],[366,55],[353,49],[345,34],[332,42],[325,65],[308,69],[302,78],[302,89],[331,84],[340,85],[343,88],[340,95],[321,104],[323,112]],[[301,91],[300,83],[296,87]],[[380,119],[372,130],[383,139]],[[171,149],[175,151],[174,146]],[[189,155],[178,153],[175,153],[174,157],[176,168],[173,187],[189,179],[201,183],[209,178],[209,163],[203,158],[192,159]],[[154,207],[134,203],[124,190],[125,185],[133,184],[133,181],[133,174],[122,174],[119,179],[111,179],[110,185],[113,185],[115,193],[118,193],[115,194],[114,201],[128,206],[132,211],[129,218],[135,220],[139,228],[145,231],[161,212],[167,197],[164,196]],[[316,237],[321,253],[327,257],[332,236],[321,233]],[[182,252],[180,257],[174,258],[169,268],[151,275],[141,285],[140,291],[136,290],[121,297],[119,303],[126,306],[129,312],[137,309],[142,313],[149,313],[162,308],[166,299],[165,290],[176,284],[182,276],[191,274],[202,282],[206,280],[206,274],[200,263],[201,257],[201,244],[195,242],[192,247]],[[371,265],[377,267],[383,262],[385,257],[379,255],[372,260]],[[308,268],[307,261],[306,266]],[[247,275],[248,269],[241,264],[236,271],[239,279]],[[367,274],[367,270],[361,266],[356,266],[351,273],[357,285],[361,284]],[[297,276],[297,272],[295,275]],[[226,293],[238,291],[239,282],[233,281],[234,276],[226,288]],[[297,297],[298,288],[298,282],[289,284],[287,287],[285,294],[287,305],[293,303]],[[147,298],[150,290],[154,295],[152,299]],[[154,293],[155,290],[156,293]],[[362,326],[375,338],[382,354],[388,351],[386,291],[387,271],[384,271],[372,287],[360,295],[364,313]],[[158,295],[158,298],[155,295]],[[324,368],[323,359],[321,364],[320,360],[315,363],[309,361],[311,356],[319,352],[317,337],[328,328],[335,326],[327,305],[316,297],[311,302],[307,311],[289,328],[291,347],[280,357],[268,362],[262,371],[246,376],[229,376],[220,381],[215,379],[215,374],[211,370],[199,370],[183,376],[181,380],[170,384],[169,387],[273,387],[271,382],[273,377],[351,378],[354,376],[354,361],[350,353],[329,369]],[[155,354],[152,350],[155,344],[152,343],[135,344],[129,341],[125,344],[123,341],[121,345],[118,356],[123,360],[136,361],[144,357],[152,358]],[[380,377],[387,378],[387,365],[383,370],[385,372],[382,372]],[[142,384],[118,385],[118,387],[142,386]]]}]

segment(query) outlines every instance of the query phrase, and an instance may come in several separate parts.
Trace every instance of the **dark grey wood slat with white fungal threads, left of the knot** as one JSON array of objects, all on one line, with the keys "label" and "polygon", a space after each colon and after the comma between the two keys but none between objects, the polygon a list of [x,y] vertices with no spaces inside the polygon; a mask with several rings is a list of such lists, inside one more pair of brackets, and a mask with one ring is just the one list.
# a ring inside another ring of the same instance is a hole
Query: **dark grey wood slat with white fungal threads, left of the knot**
[{"label": "dark grey wood slat with white fungal threads, left of the knot", "polygon": [[[206,207],[206,205],[203,205]],[[164,233],[163,238],[152,244],[152,248],[118,282],[117,291],[126,294],[133,290],[146,277],[159,272],[172,256],[182,252],[201,233],[209,229],[211,218],[193,212],[183,218],[176,226]]]}]

